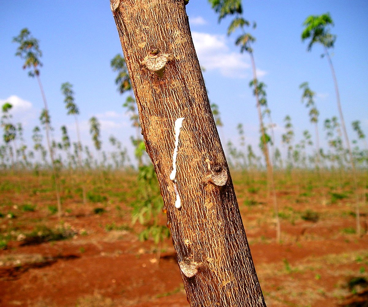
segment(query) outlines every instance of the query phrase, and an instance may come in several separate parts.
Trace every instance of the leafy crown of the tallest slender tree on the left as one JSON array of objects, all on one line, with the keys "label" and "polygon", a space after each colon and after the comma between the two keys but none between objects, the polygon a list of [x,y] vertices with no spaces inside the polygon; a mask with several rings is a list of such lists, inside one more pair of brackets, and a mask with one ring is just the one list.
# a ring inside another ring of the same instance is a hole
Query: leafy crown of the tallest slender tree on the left
[{"label": "leafy crown of the tallest slender tree on the left", "polygon": [[13,42],[19,43],[15,55],[25,60],[23,69],[30,69],[28,72],[30,77],[39,76],[39,67],[42,66],[39,58],[42,56],[42,52],[39,49],[38,39],[33,38],[31,32],[24,28],[18,36],[13,38]]}]

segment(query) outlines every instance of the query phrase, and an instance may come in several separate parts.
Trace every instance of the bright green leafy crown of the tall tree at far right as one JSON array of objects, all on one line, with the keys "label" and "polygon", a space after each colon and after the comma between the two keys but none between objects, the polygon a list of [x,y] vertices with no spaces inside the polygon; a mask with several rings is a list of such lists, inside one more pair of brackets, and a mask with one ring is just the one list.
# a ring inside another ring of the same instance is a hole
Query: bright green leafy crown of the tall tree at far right
[{"label": "bright green leafy crown of the tall tree at far right", "polygon": [[336,35],[330,34],[329,25],[333,26],[333,20],[329,13],[322,15],[310,15],[303,22],[305,29],[301,34],[302,41],[310,38],[308,51],[312,50],[314,43],[321,43],[325,48],[333,47]]}]

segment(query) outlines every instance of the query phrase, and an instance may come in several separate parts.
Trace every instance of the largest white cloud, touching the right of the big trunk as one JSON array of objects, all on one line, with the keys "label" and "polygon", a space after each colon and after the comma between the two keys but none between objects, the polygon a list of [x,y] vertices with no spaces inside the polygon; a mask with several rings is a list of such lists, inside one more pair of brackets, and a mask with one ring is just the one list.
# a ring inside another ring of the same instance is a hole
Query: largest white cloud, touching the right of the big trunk
[{"label": "largest white cloud, touching the right of the big trunk", "polygon": [[[192,32],[199,63],[206,70],[219,70],[225,77],[244,78],[251,74],[246,55],[230,51],[224,35]],[[265,74],[258,70],[259,77]]]}]

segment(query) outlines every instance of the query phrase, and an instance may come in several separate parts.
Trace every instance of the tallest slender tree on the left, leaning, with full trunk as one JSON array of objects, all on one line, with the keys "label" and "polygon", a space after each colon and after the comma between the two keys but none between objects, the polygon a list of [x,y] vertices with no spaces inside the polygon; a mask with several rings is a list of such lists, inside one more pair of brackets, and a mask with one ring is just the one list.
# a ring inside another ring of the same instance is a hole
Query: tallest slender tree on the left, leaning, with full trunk
[{"label": "tallest slender tree on the left, leaning, with full trunk", "polygon": [[45,130],[46,130],[46,140],[47,140],[47,147],[49,149],[50,159],[51,159],[51,167],[54,175],[55,180],[55,189],[56,189],[56,198],[57,198],[57,207],[58,207],[58,214],[59,218],[61,217],[61,199],[60,199],[60,187],[59,187],[59,177],[57,174],[57,170],[55,167],[55,158],[54,158],[54,150],[52,148],[52,141],[50,138],[50,115],[49,115],[49,108],[47,107],[47,100],[45,91],[43,90],[43,86],[40,79],[40,70],[39,68],[42,67],[42,63],[40,62],[40,57],[42,56],[42,52],[39,48],[38,39],[31,36],[31,32],[27,28],[21,30],[18,36],[13,38],[13,42],[18,43],[18,49],[15,53],[16,56],[19,56],[25,62],[23,64],[23,69],[28,69],[28,76],[29,77],[36,77],[38,81],[38,85],[41,91],[42,100],[44,104],[44,109],[42,111],[41,118],[45,121]]}]

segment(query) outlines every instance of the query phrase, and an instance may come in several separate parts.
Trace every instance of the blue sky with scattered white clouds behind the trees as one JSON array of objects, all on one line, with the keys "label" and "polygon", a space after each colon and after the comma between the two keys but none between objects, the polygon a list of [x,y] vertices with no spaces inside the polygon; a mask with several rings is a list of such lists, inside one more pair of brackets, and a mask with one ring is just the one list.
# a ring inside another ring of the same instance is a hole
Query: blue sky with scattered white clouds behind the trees
[{"label": "blue sky with scattered white clouds behind the trees", "polygon": [[[323,121],[338,115],[331,72],[322,48],[307,52],[302,43],[302,22],[308,15],[330,12],[337,35],[332,61],[335,65],[340,96],[350,139],[356,139],[351,122],[361,121],[368,134],[368,3],[367,1],[243,1],[244,17],[256,21],[251,30],[256,37],[254,56],[259,79],[266,83],[267,99],[276,124],[275,144],[282,148],[283,119],[290,115],[296,142],[308,129],[314,136],[308,110],[301,104],[299,85],[308,81],[316,92],[320,111],[319,132],[325,138]],[[134,134],[129,117],[121,107],[125,97],[114,84],[110,60],[121,53],[120,41],[109,1],[30,1],[0,0],[0,103],[14,104],[14,121],[24,123],[25,138],[31,144],[31,130],[39,125],[43,102],[35,79],[22,70],[22,60],[14,56],[17,45],[12,38],[28,28],[39,39],[43,52],[41,79],[49,103],[54,138],[60,138],[60,126],[67,125],[76,141],[74,118],[66,115],[62,83],[74,86],[75,102],[80,109],[79,122],[84,144],[92,146],[88,119],[97,116],[102,123],[103,147],[108,138],[117,137],[130,148]],[[207,1],[191,0],[187,5],[197,55],[206,68],[204,78],[211,102],[219,105],[224,126],[222,142],[238,142],[236,126],[243,123],[245,142],[257,147],[259,123],[255,100],[248,83],[250,59],[234,46],[235,36],[226,36],[230,20],[220,24]],[[1,142],[0,142],[1,143]],[[324,143],[322,142],[322,145]],[[362,144],[361,144],[362,145]]]}]

